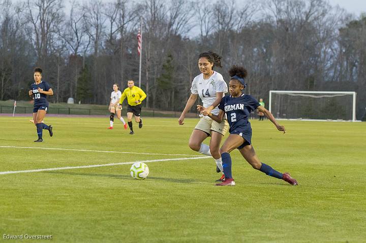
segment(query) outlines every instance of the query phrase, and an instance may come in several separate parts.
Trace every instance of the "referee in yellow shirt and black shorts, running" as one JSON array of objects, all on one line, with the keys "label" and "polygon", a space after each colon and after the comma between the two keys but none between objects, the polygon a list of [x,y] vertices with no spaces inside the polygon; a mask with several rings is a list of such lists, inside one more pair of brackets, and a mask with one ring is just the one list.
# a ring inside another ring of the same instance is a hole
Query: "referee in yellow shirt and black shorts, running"
[{"label": "referee in yellow shirt and black shorts, running", "polygon": [[127,97],[127,121],[130,127],[130,134],[135,134],[132,129],[132,115],[135,115],[135,121],[139,123],[139,128],[142,127],[141,116],[141,102],[146,98],[146,94],[142,89],[135,86],[135,82],[129,80],[127,82],[128,88],[126,88],[119,100],[119,106],[122,106],[122,102]]}]

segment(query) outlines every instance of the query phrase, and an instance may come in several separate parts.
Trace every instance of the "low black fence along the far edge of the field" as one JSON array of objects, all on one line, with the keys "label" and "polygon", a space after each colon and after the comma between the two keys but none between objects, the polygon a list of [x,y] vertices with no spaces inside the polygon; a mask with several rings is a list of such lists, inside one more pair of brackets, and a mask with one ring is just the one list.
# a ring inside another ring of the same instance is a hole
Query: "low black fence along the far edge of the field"
[{"label": "low black fence along the far edge of the field", "polygon": [[[0,106],[0,113],[13,113],[13,106]],[[33,107],[16,107],[15,114],[32,114]],[[62,115],[88,115],[88,116],[108,116],[110,113],[108,109],[87,109],[87,108],[51,108],[47,111],[48,114],[62,114]],[[122,114],[126,115],[126,110],[122,110]],[[175,111],[158,111],[158,110],[144,110],[142,109],[142,116],[145,117],[176,117],[180,116],[181,112]],[[198,117],[198,112],[187,117]]]}]

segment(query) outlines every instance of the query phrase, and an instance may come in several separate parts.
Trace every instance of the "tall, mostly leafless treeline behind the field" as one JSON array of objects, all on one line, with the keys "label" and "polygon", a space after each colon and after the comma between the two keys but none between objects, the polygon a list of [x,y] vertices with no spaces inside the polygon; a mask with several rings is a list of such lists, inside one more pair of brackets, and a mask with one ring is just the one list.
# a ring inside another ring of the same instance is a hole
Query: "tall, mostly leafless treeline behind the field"
[{"label": "tall, mostly leafless treeline behind the field", "polygon": [[[142,17],[142,88],[146,106],[182,110],[197,56],[222,55],[249,71],[247,92],[357,92],[357,118],[366,106],[366,17],[324,0],[74,1],[0,0],[0,99],[28,99],[33,68],[52,85],[51,102],[68,97],[106,104],[112,84],[138,81],[137,32]],[[195,29],[196,31],[191,31]],[[192,37],[192,32],[198,32]]]}]

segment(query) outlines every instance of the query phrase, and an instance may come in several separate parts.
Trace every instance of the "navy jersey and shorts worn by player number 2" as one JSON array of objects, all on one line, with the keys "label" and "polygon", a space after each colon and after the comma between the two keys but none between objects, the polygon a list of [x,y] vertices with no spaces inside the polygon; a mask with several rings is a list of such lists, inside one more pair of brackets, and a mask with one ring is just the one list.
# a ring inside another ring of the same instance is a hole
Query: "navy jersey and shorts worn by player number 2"
[{"label": "navy jersey and shorts worn by player number 2", "polygon": [[252,127],[249,115],[259,106],[260,103],[248,94],[242,94],[239,97],[231,97],[231,95],[223,97],[219,109],[227,115],[230,134],[238,134],[249,144],[252,144]]}]

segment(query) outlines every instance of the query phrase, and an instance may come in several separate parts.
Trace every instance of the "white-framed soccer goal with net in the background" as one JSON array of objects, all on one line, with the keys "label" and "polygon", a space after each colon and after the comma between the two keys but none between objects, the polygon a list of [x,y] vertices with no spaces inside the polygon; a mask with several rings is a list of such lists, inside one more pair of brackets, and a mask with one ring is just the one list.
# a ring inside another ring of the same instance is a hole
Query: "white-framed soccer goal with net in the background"
[{"label": "white-framed soccer goal with net in the background", "polygon": [[356,92],[270,90],[268,110],[277,119],[355,121]]}]

